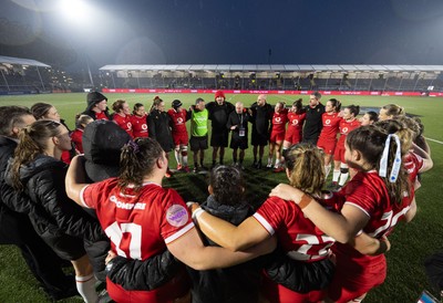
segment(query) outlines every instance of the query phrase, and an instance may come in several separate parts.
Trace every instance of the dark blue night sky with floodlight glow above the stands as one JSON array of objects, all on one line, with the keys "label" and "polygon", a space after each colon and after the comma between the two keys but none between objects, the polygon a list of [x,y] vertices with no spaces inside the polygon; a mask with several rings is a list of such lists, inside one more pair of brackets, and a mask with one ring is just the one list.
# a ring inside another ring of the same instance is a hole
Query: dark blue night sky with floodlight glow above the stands
[{"label": "dark blue night sky with floodlight glow above the stands", "polygon": [[[52,9],[59,0],[0,1],[0,44],[25,48],[40,36],[99,67],[443,64],[440,0],[93,0],[81,24]],[[25,34],[11,34],[11,24]]]}]

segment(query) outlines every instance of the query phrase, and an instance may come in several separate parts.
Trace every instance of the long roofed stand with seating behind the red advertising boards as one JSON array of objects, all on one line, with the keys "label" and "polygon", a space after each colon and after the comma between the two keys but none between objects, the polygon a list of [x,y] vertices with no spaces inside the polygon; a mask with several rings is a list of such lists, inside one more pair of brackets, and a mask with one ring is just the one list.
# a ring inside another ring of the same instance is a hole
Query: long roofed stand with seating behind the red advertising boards
[{"label": "long roofed stand with seating behind the red advertising boards", "polygon": [[[443,90],[443,65],[105,65],[107,88]],[[130,79],[131,77],[131,79]],[[135,77],[135,79],[134,79]]]}]

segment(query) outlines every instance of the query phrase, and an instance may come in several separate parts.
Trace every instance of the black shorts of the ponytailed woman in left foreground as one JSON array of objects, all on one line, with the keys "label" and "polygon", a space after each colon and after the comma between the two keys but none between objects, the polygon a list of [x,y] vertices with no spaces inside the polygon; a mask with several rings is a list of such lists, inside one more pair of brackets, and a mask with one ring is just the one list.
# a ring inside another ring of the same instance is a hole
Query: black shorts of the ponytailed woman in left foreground
[{"label": "black shorts of the ponytailed woman in left foreground", "polygon": [[86,254],[83,247],[83,239],[65,233],[52,234],[45,232],[41,238],[63,260],[78,260]]}]

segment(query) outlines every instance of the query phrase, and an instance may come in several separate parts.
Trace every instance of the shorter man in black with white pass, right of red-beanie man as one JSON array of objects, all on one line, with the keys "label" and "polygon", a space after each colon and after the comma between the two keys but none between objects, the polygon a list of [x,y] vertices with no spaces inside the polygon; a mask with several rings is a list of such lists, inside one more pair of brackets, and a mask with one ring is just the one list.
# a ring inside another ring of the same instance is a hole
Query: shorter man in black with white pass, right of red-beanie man
[{"label": "shorter man in black with white pass, right of red-beanie man", "polygon": [[[243,160],[245,159],[245,149],[248,148],[248,121],[249,114],[245,109],[241,102],[235,105],[235,112],[229,114],[226,127],[231,130],[229,147],[233,149],[234,165],[243,168]],[[237,153],[240,149],[237,163]]]}]

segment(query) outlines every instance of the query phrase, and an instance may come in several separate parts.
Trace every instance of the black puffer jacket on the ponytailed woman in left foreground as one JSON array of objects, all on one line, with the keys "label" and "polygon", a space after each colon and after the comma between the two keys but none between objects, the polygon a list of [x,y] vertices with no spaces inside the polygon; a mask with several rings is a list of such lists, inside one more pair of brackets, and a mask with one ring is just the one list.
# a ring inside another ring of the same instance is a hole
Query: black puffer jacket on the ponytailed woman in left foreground
[{"label": "black puffer jacket on the ponytailed woman in left foreground", "polygon": [[[30,203],[28,215],[35,231],[40,236],[66,233],[91,241],[103,239],[99,222],[68,198],[64,189],[66,168],[64,163],[43,155],[20,168],[24,192],[17,195],[23,196],[24,201]],[[12,185],[11,175],[8,167],[6,181],[9,185]]]}]

